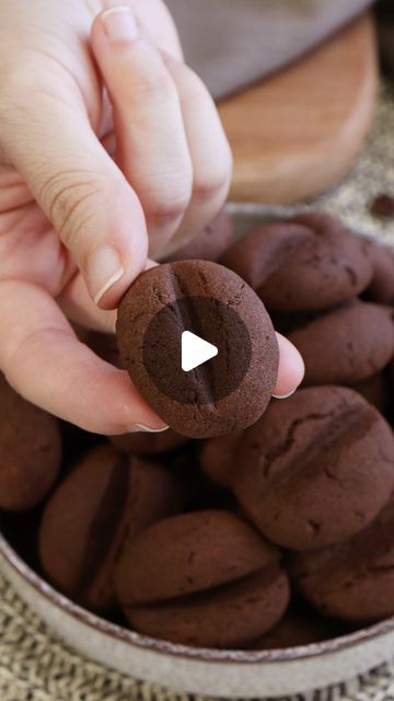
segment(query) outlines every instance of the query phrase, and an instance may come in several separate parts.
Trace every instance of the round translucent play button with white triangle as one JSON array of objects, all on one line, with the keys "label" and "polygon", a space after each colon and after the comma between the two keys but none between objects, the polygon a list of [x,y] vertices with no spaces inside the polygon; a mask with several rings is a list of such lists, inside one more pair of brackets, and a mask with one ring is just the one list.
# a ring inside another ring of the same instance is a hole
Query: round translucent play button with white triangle
[{"label": "round translucent play button with white triangle", "polygon": [[251,357],[252,342],[236,303],[217,297],[170,300],[143,335],[149,381],[179,404],[216,405],[230,397],[242,383]]}]

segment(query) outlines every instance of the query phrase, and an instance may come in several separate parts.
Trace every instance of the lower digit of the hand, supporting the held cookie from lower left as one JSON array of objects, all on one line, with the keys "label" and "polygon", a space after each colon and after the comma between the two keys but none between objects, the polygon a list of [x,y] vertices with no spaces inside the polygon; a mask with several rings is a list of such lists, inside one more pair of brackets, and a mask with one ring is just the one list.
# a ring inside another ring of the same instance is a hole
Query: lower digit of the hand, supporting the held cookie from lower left
[{"label": "lower digit of the hand, supporting the held cookie from lower left", "polygon": [[81,343],[45,290],[0,283],[0,367],[25,399],[97,434],[164,430],[128,375]]}]

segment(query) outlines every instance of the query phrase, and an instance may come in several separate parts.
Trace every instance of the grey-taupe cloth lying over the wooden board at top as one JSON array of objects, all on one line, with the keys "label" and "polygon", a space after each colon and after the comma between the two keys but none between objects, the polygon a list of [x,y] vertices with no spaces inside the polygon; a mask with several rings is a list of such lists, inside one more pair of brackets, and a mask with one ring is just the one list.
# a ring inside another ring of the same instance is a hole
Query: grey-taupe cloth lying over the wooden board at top
[{"label": "grey-taupe cloth lying over the wooden board at top", "polygon": [[372,0],[166,0],[185,56],[213,95],[317,45]]}]

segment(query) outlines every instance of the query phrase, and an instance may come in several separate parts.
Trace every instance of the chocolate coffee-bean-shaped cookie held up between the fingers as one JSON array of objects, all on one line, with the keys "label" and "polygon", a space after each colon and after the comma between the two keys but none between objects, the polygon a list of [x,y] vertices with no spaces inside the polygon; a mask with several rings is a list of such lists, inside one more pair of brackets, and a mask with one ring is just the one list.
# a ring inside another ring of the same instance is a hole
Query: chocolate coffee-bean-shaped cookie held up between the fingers
[{"label": "chocolate coffee-bean-shaped cookie held up between the fingers", "polygon": [[[181,367],[185,331],[218,348],[190,371]],[[255,292],[217,263],[167,263],[140,275],[120,302],[117,337],[142,397],[184,436],[218,436],[253,424],[276,384],[279,353],[270,319]]]}]

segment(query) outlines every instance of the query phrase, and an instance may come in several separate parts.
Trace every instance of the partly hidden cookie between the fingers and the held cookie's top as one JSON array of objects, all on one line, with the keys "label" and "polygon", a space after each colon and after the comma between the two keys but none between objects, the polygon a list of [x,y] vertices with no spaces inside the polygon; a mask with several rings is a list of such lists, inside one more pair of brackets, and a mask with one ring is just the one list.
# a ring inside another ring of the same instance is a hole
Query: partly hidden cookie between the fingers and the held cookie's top
[{"label": "partly hidden cookie between the fingers and the held cookie's top", "polygon": [[233,223],[222,210],[200,233],[188,243],[171,253],[165,263],[174,261],[219,261],[233,240]]}]

